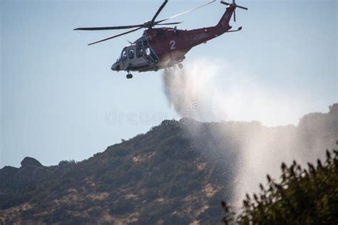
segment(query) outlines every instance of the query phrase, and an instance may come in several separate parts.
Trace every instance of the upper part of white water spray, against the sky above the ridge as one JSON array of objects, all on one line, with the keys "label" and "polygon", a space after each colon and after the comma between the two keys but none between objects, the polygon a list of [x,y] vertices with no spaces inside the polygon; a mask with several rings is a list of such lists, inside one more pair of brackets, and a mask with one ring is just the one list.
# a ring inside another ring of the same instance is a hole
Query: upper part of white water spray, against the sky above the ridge
[{"label": "upper part of white water spray, against the sky above the ridge", "polygon": [[[186,64],[183,70],[165,70],[163,86],[170,105],[180,116],[191,113],[203,119],[208,114],[217,120],[218,115],[224,119],[226,114],[227,120],[297,125],[309,108],[299,94],[268,88],[255,75],[205,58]],[[193,108],[193,103],[198,103],[199,110]]]}]

